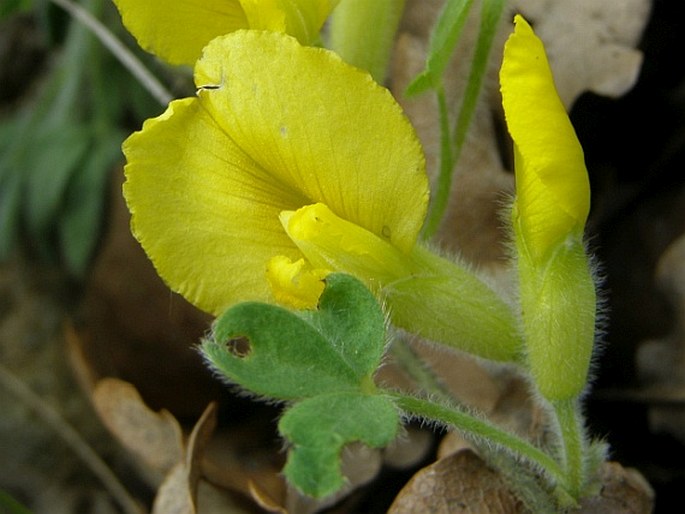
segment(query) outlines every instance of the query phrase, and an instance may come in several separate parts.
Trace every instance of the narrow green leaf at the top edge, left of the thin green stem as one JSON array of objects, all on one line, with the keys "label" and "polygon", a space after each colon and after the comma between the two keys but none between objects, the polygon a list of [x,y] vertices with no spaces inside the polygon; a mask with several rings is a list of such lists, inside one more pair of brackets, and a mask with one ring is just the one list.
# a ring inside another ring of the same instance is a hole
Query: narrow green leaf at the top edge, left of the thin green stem
[{"label": "narrow green leaf at the top edge, left of the thin green stem", "polygon": [[459,41],[473,0],[448,0],[431,34],[426,67],[407,87],[407,96],[434,89],[442,83],[442,74]]}]

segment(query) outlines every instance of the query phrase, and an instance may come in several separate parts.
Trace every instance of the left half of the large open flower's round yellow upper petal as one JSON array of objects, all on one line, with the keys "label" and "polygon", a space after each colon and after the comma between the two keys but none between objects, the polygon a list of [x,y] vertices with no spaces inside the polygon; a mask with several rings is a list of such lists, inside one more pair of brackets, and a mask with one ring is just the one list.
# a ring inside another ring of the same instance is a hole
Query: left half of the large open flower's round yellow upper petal
[{"label": "left half of the large open flower's round yellow upper petal", "polygon": [[301,203],[219,130],[197,99],[172,102],[124,143],[132,229],[158,273],[209,312],[272,301],[275,253],[298,256],[278,222]]}]

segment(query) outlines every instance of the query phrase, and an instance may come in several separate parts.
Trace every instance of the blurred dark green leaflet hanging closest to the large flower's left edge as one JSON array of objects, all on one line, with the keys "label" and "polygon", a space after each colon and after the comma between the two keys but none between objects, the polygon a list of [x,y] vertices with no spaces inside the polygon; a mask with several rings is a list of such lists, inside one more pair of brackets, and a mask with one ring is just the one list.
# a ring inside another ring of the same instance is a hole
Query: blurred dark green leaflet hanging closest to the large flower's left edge
[{"label": "blurred dark green leaflet hanging closest to the large flower's left edge", "polygon": [[83,277],[103,225],[108,178],[121,159],[123,136],[110,131],[96,142],[69,182],[59,217],[60,249],[68,270]]}]

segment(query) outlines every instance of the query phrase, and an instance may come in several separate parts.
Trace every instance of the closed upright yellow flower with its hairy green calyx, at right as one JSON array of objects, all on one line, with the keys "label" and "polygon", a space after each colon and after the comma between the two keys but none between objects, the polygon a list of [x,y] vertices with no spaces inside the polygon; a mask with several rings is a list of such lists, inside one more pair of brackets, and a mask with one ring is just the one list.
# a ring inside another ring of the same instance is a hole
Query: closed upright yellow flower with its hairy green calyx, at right
[{"label": "closed upright yellow flower with its hairy green calyx, at right", "polygon": [[583,230],[590,187],[583,150],[559,99],[542,42],[521,17],[500,71],[514,140],[521,318],[530,371],[548,400],[587,383],[596,293]]}]

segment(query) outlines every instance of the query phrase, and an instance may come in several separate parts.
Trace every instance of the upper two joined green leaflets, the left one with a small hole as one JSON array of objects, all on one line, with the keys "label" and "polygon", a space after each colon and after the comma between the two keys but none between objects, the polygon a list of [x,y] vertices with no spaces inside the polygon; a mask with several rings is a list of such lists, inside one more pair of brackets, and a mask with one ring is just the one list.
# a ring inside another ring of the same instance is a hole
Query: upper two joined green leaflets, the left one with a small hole
[{"label": "upper two joined green leaflets, the left one with a small hole", "polygon": [[229,381],[258,395],[295,400],[359,391],[384,347],[383,313],[371,293],[349,275],[332,274],[318,310],[238,304],[217,319],[201,350]]}]

